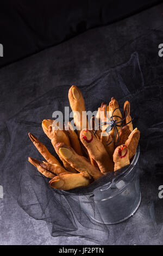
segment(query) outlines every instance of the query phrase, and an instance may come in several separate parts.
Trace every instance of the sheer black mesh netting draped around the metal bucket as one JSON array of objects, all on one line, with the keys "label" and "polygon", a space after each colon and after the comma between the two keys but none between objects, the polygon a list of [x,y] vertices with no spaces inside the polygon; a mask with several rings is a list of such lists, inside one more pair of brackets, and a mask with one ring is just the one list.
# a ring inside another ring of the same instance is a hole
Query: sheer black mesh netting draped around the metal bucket
[{"label": "sheer black mesh netting draped around the metal bucket", "polygon": [[[151,186],[150,189],[154,179],[161,182],[163,169],[163,58],[158,56],[161,38],[162,32],[158,31],[135,40],[128,49],[123,49],[131,53],[127,63],[106,70],[87,86],[77,84],[84,96],[86,110],[95,111],[102,101],[109,102],[112,96],[120,107],[124,101],[130,101],[134,127],[139,127],[141,132],[141,177],[150,176],[149,184],[145,183]],[[30,142],[28,132],[32,132],[55,155],[51,142],[42,131],[41,121],[51,119],[54,111],[64,112],[64,107],[69,106],[69,88],[70,85],[55,87],[8,121],[10,144],[3,160],[3,185],[27,214],[47,222],[53,236],[81,236],[104,244],[109,237],[110,226],[93,222],[88,212],[97,210],[90,197],[91,192],[95,187],[110,182],[110,175],[89,188],[78,188],[68,194],[49,187],[49,179],[28,162],[28,156],[43,160]],[[86,192],[90,194],[86,195]],[[89,209],[85,211],[81,205],[88,199]]]}]

